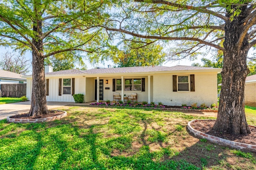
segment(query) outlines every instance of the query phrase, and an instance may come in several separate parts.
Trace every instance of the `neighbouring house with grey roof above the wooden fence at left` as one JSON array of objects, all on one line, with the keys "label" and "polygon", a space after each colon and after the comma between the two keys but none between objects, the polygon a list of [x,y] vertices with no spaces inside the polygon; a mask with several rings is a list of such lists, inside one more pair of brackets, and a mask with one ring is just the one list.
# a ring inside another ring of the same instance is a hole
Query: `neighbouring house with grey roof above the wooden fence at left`
[{"label": "neighbouring house with grey roof above the wooden fence at left", "polygon": [[21,74],[0,70],[0,84],[26,83],[26,78],[22,78]]}]

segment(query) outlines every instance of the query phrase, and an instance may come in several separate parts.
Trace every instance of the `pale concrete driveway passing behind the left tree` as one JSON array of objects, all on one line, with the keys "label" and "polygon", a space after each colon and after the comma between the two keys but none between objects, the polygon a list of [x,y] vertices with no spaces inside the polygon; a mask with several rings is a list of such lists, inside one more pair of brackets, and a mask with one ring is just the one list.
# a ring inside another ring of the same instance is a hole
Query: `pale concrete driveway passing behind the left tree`
[{"label": "pale concrete driveway passing behind the left tree", "polygon": [[[70,104],[75,104],[75,102],[47,102],[48,109],[55,107],[66,106]],[[5,119],[10,115],[16,115],[18,113],[26,113],[30,109],[30,101],[18,102],[10,104],[0,105],[0,120]]]}]

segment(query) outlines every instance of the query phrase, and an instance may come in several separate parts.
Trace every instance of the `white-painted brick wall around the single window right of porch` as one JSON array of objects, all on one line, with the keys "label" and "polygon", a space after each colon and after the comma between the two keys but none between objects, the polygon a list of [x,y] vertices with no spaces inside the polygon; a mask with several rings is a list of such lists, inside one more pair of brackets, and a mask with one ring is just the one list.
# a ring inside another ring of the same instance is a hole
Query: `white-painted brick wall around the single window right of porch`
[{"label": "white-painted brick wall around the single window right of porch", "polygon": [[195,92],[173,92],[172,76],[189,74],[159,74],[154,75],[154,102],[162,102],[164,105],[181,106],[186,104],[197,103],[200,106],[205,103],[207,106],[217,104],[217,74],[196,74],[195,75]]}]

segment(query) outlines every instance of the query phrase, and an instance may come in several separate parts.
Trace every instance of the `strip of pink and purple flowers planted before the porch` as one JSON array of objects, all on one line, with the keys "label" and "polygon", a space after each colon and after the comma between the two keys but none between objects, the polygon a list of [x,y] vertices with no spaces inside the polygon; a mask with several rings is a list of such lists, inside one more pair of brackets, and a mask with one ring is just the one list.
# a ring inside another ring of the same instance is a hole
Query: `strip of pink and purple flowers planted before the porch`
[{"label": "strip of pink and purple flowers planted before the porch", "polygon": [[90,103],[90,105],[93,106],[125,106],[125,107],[158,107],[158,108],[164,108],[164,105],[152,105],[152,104],[120,104],[120,103],[104,103],[104,102],[96,102],[96,103]]}]

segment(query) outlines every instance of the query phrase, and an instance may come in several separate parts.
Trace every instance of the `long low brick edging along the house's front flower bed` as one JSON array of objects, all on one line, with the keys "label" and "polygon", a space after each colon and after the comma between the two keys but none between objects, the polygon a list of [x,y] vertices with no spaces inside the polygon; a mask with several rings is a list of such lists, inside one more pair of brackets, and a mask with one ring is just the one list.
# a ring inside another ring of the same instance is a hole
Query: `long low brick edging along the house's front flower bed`
[{"label": "long low brick edging along the house's front flower bed", "polygon": [[215,112],[218,110],[209,110],[209,109],[181,109],[181,108],[166,108],[166,107],[132,107],[132,106],[101,106],[101,105],[74,105],[69,104],[67,106],[82,106],[82,107],[118,107],[118,108],[140,108],[140,109],[161,109],[161,110],[173,110],[173,111],[201,111],[201,112]]}]

